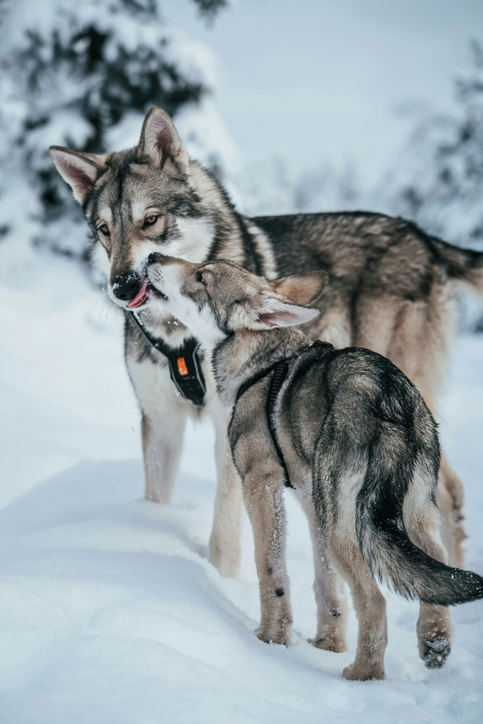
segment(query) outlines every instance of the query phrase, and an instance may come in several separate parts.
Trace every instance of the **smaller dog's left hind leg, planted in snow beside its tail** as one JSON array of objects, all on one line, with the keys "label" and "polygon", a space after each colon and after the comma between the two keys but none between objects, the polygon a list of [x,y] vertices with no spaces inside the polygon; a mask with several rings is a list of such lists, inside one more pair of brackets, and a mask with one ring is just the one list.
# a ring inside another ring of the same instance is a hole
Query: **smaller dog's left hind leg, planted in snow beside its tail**
[{"label": "smaller dog's left hind leg, planted in snow beside its tail", "polygon": [[358,620],[356,660],[343,670],[343,677],[352,681],[383,679],[387,646],[385,597],[355,543],[340,539],[333,553],[337,568],[348,582]]}]

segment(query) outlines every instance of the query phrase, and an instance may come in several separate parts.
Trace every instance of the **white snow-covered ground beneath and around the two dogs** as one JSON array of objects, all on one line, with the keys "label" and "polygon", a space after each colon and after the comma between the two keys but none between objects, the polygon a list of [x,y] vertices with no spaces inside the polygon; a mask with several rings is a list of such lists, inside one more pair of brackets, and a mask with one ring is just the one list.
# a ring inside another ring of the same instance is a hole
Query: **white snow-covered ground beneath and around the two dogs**
[{"label": "white snow-covered ground beneath and around the two dogs", "polygon": [[[206,560],[208,424],[185,437],[172,508],[143,500],[139,414],[122,324],[69,261],[0,285],[0,723],[476,723],[483,602],[454,610],[453,652],[427,670],[417,606],[387,594],[387,680],[348,682],[349,651],[315,633],[303,515],[287,494],[290,647],[266,645],[251,531],[239,580]],[[442,442],[466,485],[468,565],[483,573],[483,340],[455,345]]]}]

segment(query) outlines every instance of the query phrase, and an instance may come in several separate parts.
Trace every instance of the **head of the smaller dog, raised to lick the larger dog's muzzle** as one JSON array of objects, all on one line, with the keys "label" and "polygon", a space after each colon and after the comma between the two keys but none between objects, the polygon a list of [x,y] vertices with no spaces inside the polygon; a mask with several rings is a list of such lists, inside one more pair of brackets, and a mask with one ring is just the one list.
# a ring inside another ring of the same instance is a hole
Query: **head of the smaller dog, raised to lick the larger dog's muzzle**
[{"label": "head of the smaller dog, raised to lick the larger dog's muzzle", "polygon": [[293,327],[314,319],[320,310],[306,306],[327,284],[325,271],[309,271],[267,282],[232,261],[192,264],[152,254],[148,278],[157,302],[180,319],[210,350],[239,330]]}]

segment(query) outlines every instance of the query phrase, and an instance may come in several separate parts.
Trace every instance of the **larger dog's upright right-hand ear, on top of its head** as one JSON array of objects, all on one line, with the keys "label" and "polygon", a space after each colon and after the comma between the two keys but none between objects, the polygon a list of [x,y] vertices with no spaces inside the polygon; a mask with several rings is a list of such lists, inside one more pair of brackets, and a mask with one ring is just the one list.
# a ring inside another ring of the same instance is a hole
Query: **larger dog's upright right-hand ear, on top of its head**
[{"label": "larger dog's upright right-hand ear, on top of its head", "polygon": [[138,156],[147,156],[158,169],[162,169],[166,161],[171,159],[188,173],[190,156],[183,148],[172,120],[163,109],[154,106],[148,111],[141,131]]}]

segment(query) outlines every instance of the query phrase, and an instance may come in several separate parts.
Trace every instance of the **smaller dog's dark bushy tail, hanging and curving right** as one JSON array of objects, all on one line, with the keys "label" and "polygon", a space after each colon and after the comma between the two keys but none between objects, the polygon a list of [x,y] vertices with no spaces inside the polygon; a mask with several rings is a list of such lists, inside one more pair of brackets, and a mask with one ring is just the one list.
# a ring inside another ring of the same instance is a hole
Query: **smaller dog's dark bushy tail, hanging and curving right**
[{"label": "smaller dog's dark bushy tail, hanging and curving right", "polygon": [[357,497],[359,546],[371,571],[396,592],[427,603],[450,606],[483,598],[482,576],[450,568],[411,542],[403,521],[403,500],[413,463],[398,460],[395,467],[385,469],[384,460],[377,452],[371,455]]}]

